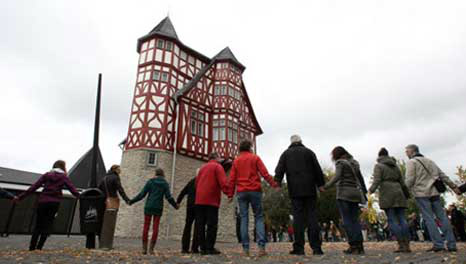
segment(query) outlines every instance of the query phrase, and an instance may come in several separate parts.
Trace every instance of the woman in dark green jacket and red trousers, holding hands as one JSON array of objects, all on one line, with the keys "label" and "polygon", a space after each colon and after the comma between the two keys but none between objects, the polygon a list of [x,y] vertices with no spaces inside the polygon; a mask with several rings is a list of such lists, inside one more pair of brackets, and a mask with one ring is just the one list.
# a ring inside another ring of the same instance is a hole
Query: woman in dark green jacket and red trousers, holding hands
[{"label": "woman in dark green jacket and red trousers, holding hands", "polygon": [[165,180],[165,173],[162,169],[157,168],[155,170],[155,177],[148,180],[141,192],[131,199],[130,205],[144,199],[146,195],[149,195],[146,199],[144,206],[144,229],[142,231],[142,254],[147,254],[147,242],[149,238],[149,227],[152,218],[154,219],[152,226],[152,238],[150,241],[149,253],[154,254],[155,243],[157,242],[157,236],[159,232],[160,217],[163,212],[163,198],[178,210],[179,205],[173,199],[170,193],[170,186]]}]

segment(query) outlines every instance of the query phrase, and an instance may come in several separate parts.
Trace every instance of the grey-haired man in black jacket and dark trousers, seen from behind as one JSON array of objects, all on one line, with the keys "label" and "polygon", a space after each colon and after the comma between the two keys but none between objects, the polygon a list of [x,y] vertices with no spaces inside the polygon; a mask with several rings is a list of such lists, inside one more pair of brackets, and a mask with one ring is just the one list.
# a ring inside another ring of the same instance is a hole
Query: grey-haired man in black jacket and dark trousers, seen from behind
[{"label": "grey-haired man in black jacket and dark trousers, seen from behind", "polygon": [[295,242],[292,255],[304,255],[304,230],[307,228],[309,243],[314,255],[322,255],[322,240],[317,222],[317,188],[323,191],[324,174],[312,150],[306,148],[301,137],[291,137],[290,147],[281,155],[275,169],[275,181],[279,184],[286,174],[288,193],[293,208]]}]

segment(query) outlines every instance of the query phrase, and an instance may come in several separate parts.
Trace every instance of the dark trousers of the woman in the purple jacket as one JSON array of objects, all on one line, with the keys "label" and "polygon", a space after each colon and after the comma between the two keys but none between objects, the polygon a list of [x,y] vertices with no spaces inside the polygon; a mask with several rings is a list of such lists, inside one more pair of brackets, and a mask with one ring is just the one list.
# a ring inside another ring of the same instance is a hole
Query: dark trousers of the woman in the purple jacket
[{"label": "dark trousers of the woman in the purple jacket", "polygon": [[44,247],[45,241],[51,233],[55,214],[58,212],[59,207],[60,203],[58,202],[39,203],[37,207],[36,226],[31,236],[29,250],[41,250]]}]

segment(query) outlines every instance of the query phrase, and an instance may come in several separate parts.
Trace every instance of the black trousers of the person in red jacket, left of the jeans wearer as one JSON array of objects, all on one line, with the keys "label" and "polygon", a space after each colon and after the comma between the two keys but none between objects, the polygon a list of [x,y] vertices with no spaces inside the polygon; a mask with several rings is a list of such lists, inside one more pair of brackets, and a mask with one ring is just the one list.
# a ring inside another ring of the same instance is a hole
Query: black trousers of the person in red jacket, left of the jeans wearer
[{"label": "black trousers of the person in red jacket, left of the jeans wearer", "polygon": [[201,250],[213,250],[217,241],[218,207],[197,205],[196,226]]}]

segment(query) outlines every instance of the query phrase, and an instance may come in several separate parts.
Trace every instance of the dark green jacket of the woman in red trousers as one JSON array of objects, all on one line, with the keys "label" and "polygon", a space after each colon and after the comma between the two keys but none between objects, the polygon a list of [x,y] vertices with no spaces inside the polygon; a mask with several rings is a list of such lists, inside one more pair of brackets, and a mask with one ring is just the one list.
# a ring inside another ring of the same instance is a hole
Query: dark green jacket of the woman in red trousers
[{"label": "dark green jacket of the woman in red trousers", "polygon": [[131,199],[129,204],[134,204],[144,197],[147,197],[146,204],[144,205],[144,214],[145,215],[157,215],[161,216],[163,212],[163,199],[167,201],[176,208],[175,199],[173,199],[170,193],[170,186],[164,177],[155,177],[146,182],[144,188],[139,192],[136,197]]}]

